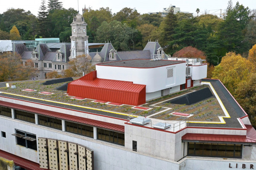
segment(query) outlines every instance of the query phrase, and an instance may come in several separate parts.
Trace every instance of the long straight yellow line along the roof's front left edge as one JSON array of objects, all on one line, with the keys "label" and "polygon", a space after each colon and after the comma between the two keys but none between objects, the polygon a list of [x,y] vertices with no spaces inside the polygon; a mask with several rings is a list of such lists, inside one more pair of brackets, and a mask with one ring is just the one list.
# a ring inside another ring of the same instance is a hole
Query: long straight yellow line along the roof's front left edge
[{"label": "long straight yellow line along the roof's front left edge", "polygon": [[[39,98],[35,98],[35,97],[23,96],[23,95],[18,95],[18,94],[12,94],[12,93],[6,93],[6,92],[3,92],[3,94],[9,94],[9,95],[20,96],[20,97],[25,97],[25,98],[29,98],[29,99],[42,100],[42,101],[45,101],[45,102],[58,103],[58,104],[62,104],[62,105],[70,105],[70,106],[75,106],[75,107],[79,107],[79,108],[86,108],[86,109],[90,109],[90,110],[103,111],[103,112],[128,116],[128,114],[124,114],[124,113],[117,113],[117,112],[113,112],[113,111],[101,110],[101,109],[96,109],[96,108],[89,108],[89,107],[84,107],[84,106],[80,106],[80,105],[73,105],[73,104],[68,104],[68,103],[63,103],[63,102],[55,102],[55,101],[52,101],[52,100],[39,99]],[[133,116],[133,117],[137,117],[137,116]]]}]

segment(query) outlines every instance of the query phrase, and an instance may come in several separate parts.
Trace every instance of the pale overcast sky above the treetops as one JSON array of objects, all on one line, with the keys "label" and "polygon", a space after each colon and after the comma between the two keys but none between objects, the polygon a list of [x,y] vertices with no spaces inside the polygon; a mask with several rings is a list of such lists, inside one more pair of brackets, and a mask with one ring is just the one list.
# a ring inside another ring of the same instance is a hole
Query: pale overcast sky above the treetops
[{"label": "pale overcast sky above the treetops", "polygon": [[[46,0],[48,2],[48,0]],[[60,0],[63,2],[64,8],[78,9],[77,0]],[[159,12],[163,8],[169,7],[170,4],[180,8],[180,11],[188,11],[196,14],[196,8],[200,9],[201,13],[208,11],[209,14],[219,14],[219,9],[227,8],[228,0],[79,0],[79,11],[86,5],[93,9],[99,9],[101,7],[109,7],[112,9],[112,13],[120,11],[122,8],[136,8],[140,14],[148,12]],[[233,1],[233,6],[237,1]],[[240,0],[240,4],[250,9],[256,9],[256,0]],[[32,14],[38,14],[41,0],[6,0],[5,3],[1,3],[0,13],[3,14],[9,8],[23,8],[25,11],[31,11]]]}]

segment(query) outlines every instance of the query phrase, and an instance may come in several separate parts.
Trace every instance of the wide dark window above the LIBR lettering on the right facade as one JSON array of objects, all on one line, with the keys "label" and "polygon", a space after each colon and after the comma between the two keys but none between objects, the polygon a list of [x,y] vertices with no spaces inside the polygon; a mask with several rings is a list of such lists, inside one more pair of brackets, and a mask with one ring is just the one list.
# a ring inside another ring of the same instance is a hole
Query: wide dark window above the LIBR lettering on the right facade
[{"label": "wide dark window above the LIBR lettering on the right facade", "polygon": [[241,144],[211,144],[188,142],[188,156],[241,158]]}]

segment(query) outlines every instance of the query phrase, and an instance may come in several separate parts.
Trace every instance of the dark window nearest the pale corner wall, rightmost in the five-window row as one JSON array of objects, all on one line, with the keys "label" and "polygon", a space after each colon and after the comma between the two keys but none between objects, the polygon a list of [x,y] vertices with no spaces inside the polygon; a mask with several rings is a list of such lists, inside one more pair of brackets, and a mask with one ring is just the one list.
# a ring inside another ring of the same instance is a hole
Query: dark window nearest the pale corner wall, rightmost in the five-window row
[{"label": "dark window nearest the pale corner wall, rightmost in the five-window row", "polygon": [[111,142],[114,144],[119,144],[125,146],[125,134],[113,132],[105,129],[97,129],[97,137],[99,140],[105,142]]}]

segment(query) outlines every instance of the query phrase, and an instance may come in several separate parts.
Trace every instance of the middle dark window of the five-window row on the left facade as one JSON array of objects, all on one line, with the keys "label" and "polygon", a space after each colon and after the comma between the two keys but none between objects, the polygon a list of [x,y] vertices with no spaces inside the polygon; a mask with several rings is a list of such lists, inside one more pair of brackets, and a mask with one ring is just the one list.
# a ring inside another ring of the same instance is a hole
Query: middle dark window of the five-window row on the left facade
[{"label": "middle dark window of the five-window row on the left facade", "polygon": [[55,119],[47,116],[38,115],[38,125],[43,125],[58,130],[62,130],[62,123],[60,119]]}]

